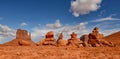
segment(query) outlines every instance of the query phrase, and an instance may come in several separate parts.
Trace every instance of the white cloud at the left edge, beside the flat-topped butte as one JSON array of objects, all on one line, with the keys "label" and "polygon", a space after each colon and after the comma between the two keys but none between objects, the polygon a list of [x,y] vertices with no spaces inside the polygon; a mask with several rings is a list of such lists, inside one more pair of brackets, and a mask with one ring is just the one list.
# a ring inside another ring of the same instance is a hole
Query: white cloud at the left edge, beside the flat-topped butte
[{"label": "white cloud at the left edge, beside the flat-topped butte", "polygon": [[6,25],[0,24],[0,40],[15,37],[15,30]]}]

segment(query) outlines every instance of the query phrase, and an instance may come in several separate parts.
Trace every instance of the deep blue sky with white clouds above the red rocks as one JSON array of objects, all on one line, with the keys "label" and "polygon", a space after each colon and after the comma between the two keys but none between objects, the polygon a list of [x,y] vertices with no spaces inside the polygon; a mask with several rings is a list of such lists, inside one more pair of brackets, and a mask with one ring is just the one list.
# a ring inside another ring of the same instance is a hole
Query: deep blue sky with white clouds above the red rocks
[{"label": "deep blue sky with white clouds above the red rocks", "polygon": [[26,29],[37,42],[48,31],[55,37],[72,31],[78,37],[98,26],[105,35],[120,30],[119,0],[0,0],[0,43],[11,40],[16,29]]}]

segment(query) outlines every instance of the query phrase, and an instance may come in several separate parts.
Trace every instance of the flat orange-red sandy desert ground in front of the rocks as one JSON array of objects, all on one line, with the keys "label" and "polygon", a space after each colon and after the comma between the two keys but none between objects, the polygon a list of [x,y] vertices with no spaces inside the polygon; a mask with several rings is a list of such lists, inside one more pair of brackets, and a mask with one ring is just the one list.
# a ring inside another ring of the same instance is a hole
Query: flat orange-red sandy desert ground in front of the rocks
[{"label": "flat orange-red sandy desert ground in front of the rocks", "polygon": [[119,47],[0,46],[0,59],[119,59]]}]

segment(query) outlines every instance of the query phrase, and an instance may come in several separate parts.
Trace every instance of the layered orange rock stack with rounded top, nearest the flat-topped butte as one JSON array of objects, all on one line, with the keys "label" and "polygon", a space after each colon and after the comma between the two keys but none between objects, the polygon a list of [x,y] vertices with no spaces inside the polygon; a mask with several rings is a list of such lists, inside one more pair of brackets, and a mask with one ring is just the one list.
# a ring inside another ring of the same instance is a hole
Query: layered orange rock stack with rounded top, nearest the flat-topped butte
[{"label": "layered orange rock stack with rounded top, nearest the flat-topped butte", "polygon": [[53,45],[56,46],[56,40],[54,38],[54,33],[52,31],[48,32],[46,34],[46,37],[44,39],[41,39],[40,42],[37,44],[38,46],[40,45]]}]

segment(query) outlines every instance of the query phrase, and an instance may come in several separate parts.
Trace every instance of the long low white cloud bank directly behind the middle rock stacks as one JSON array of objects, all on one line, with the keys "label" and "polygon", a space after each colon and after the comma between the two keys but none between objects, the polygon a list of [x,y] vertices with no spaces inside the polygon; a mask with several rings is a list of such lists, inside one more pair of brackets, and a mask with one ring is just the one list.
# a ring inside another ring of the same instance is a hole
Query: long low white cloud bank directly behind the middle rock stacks
[{"label": "long low white cloud bank directly behind the middle rock stacks", "polygon": [[78,37],[80,37],[82,34],[88,34],[88,30],[86,29],[87,22],[82,22],[77,25],[66,25],[62,26],[60,28],[40,28],[35,27],[32,31],[32,38],[35,40],[40,40],[43,38],[48,31],[54,31],[55,38],[57,39],[59,34],[62,32],[65,39],[70,38],[70,34],[72,32],[76,32],[78,34]]}]

